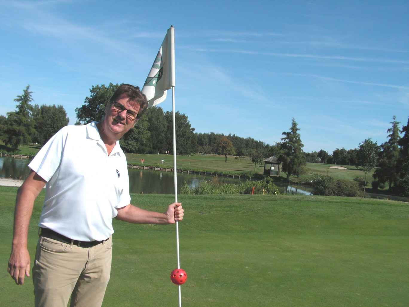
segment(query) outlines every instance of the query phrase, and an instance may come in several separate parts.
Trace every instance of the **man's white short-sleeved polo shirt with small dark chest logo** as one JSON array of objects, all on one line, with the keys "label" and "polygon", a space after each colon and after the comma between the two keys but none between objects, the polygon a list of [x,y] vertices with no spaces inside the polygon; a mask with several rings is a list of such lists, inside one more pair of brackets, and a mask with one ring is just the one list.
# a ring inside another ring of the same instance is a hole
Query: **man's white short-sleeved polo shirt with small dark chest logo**
[{"label": "man's white short-sleeved polo shirt with small dark chest logo", "polygon": [[38,226],[74,240],[108,238],[117,208],[130,203],[124,152],[117,141],[108,156],[96,124],[65,126],[29,164],[47,181]]}]

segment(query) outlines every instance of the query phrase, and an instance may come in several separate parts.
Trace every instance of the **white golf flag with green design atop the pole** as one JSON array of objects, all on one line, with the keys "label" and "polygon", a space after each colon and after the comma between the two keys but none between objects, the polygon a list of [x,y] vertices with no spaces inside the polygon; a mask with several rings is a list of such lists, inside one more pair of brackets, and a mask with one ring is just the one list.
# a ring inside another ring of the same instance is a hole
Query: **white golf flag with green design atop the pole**
[{"label": "white golf flag with green design atop the pole", "polygon": [[175,28],[168,29],[159,48],[151,71],[146,78],[142,93],[148,99],[148,108],[166,99],[166,91],[175,86]]}]

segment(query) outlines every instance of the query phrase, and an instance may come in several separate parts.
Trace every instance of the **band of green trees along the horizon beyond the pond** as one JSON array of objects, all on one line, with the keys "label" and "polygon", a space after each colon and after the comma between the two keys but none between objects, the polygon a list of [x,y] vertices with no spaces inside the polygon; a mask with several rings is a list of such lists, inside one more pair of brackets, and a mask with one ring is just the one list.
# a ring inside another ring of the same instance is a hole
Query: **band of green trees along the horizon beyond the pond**
[{"label": "band of green trees along the horizon beyond the pond", "polygon": [[[84,104],[75,109],[76,125],[87,124],[93,120],[99,122],[104,115],[110,97],[118,84],[96,85],[90,88],[89,97]],[[28,85],[22,95],[18,95],[16,111],[0,115],[0,138],[13,149],[21,144],[37,142],[44,144],[59,129],[67,125],[69,119],[63,106],[33,105],[34,99]],[[235,134],[197,133],[191,126],[188,116],[176,112],[176,148],[177,154],[191,153],[222,154],[225,156],[250,157],[254,168],[263,165],[263,160],[275,156],[281,163],[281,170],[287,176],[300,176],[308,173],[306,163],[329,163],[354,165],[366,174],[377,167],[373,174],[373,187],[389,184],[390,190],[409,193],[409,135],[408,124],[400,126],[393,116],[391,128],[387,130],[388,140],[381,145],[366,139],[355,149],[337,148],[332,154],[324,149],[303,151],[301,135],[295,119],[289,131],[282,133],[279,142],[270,145],[254,138],[243,138]],[[403,136],[401,134],[404,133]],[[146,110],[145,115],[119,141],[122,149],[128,153],[173,153],[173,119],[170,111],[161,107]],[[364,185],[364,186],[365,186]]]}]

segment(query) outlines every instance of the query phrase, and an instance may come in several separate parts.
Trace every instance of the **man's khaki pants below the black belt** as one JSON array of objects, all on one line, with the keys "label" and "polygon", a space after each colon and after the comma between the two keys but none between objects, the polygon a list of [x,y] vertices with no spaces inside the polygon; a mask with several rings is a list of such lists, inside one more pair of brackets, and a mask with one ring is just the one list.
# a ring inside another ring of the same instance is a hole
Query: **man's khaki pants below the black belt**
[{"label": "man's khaki pants below the black belt", "polygon": [[33,266],[36,307],[99,307],[109,281],[112,237],[84,248],[40,237]]}]

